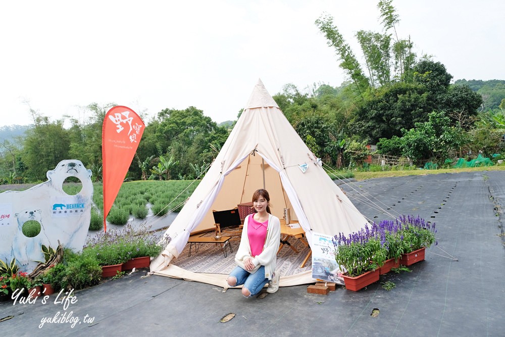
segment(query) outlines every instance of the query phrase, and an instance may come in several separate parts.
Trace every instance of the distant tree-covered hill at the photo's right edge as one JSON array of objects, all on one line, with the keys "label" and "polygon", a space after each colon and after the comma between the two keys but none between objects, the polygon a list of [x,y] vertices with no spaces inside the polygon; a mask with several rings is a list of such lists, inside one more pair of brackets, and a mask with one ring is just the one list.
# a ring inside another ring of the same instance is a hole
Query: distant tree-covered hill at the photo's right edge
[{"label": "distant tree-covered hill at the photo's right edge", "polygon": [[492,79],[488,81],[459,79],[454,84],[468,85],[473,91],[480,93],[484,100],[484,110],[499,110],[501,100],[505,99],[505,80]]}]

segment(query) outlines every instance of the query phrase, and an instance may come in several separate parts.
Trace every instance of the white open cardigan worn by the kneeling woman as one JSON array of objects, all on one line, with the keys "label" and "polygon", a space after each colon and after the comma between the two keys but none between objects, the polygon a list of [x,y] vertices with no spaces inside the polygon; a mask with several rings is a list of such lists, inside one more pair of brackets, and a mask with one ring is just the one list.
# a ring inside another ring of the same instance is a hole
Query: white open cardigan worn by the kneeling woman
[{"label": "white open cardigan worn by the kneeling woman", "polygon": [[[254,214],[251,214],[250,216],[253,215]],[[272,214],[269,215],[267,237],[265,239],[263,251],[260,255],[253,258],[251,256],[249,237],[247,236],[248,220],[249,217],[247,216],[244,220],[244,227],[242,228],[240,245],[238,246],[237,254],[235,255],[235,262],[237,264],[243,265],[243,262],[246,258],[252,259],[252,263],[255,265],[255,267],[258,264],[265,266],[265,277],[270,280],[272,279],[272,274],[275,271],[275,265],[277,263],[277,251],[279,250],[281,239],[281,223],[278,217]]]}]

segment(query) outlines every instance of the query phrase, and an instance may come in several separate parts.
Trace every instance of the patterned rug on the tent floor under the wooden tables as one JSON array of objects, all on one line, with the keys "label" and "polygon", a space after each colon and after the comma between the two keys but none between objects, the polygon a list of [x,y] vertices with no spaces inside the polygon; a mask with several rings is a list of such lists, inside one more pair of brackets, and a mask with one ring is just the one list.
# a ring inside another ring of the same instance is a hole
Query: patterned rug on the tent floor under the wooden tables
[{"label": "patterned rug on the tent floor under the wooden tables", "polygon": [[[203,236],[213,236],[214,232],[206,233]],[[306,240],[305,238],[302,238]],[[194,246],[189,254],[189,244],[186,245],[179,257],[172,263],[180,268],[195,272],[195,273],[214,273],[228,275],[235,268],[235,254],[238,249],[240,238],[234,237],[230,239],[229,244],[233,250],[230,253],[230,248],[226,247],[227,257],[224,257],[220,245],[216,244],[200,244],[198,253],[195,253]],[[307,242],[307,241],[306,241]],[[298,251],[295,253],[289,246],[284,245],[279,254],[277,254],[277,270],[281,276],[289,276],[298,274],[312,269],[311,258],[307,261],[304,268],[300,268],[301,263],[309,253],[309,248],[306,247],[299,239],[290,238],[289,243]]]}]

